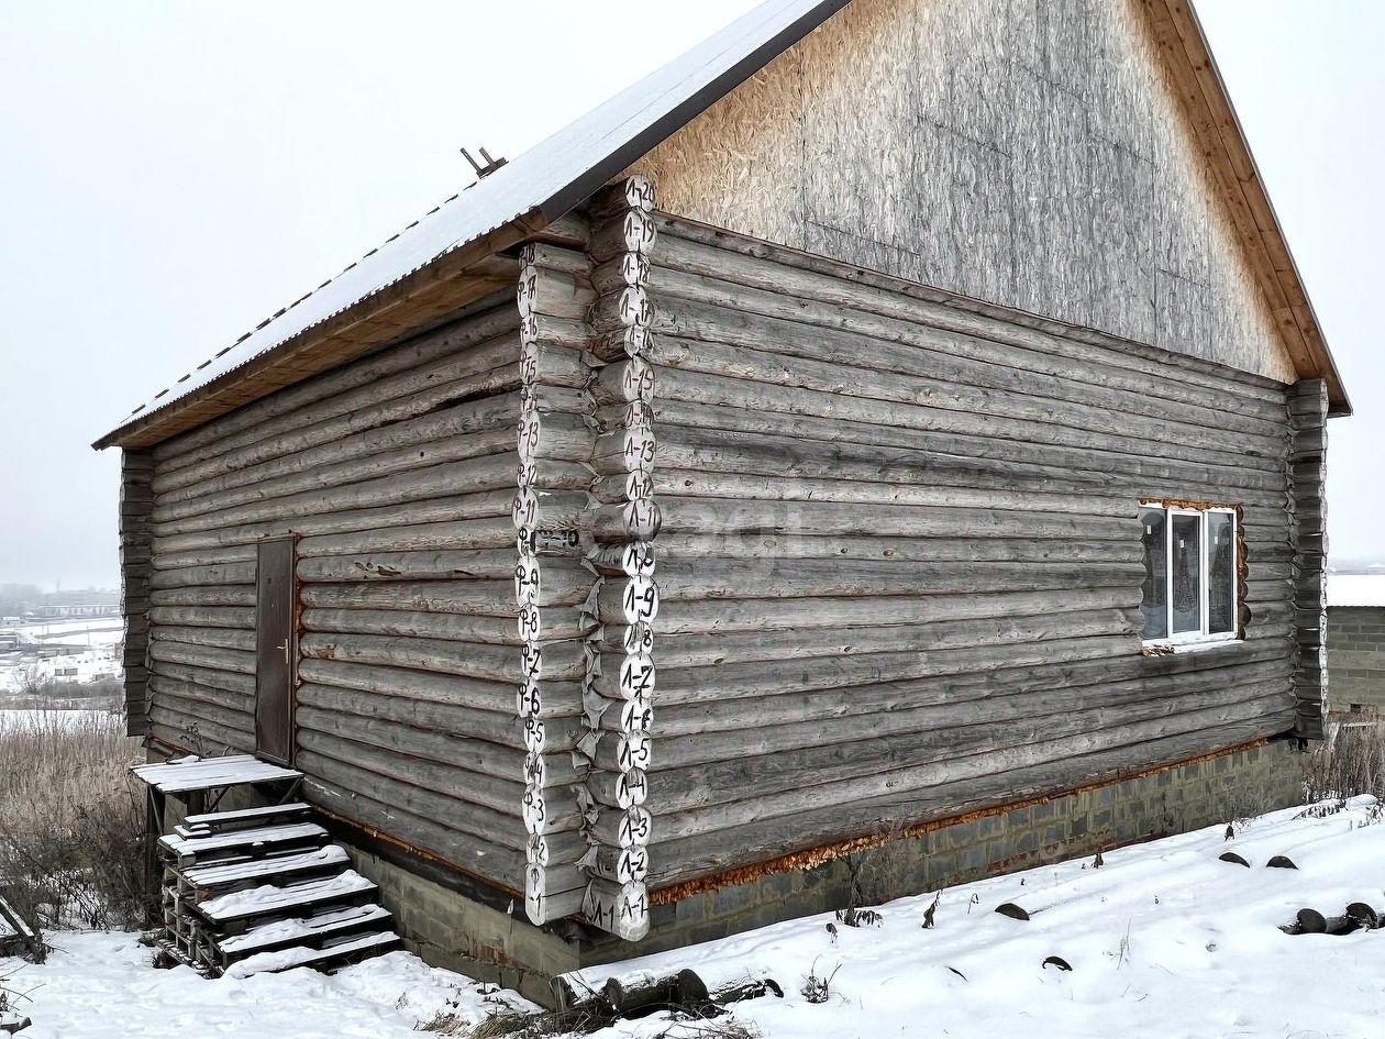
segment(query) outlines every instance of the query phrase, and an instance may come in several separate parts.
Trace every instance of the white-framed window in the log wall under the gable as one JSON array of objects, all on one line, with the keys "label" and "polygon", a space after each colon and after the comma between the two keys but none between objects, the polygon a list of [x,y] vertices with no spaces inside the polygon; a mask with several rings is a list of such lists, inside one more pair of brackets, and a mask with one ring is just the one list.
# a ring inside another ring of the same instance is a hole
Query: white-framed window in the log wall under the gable
[{"label": "white-framed window in the log wall under the gable", "polygon": [[1237,637],[1235,508],[1147,501],[1144,542],[1145,643],[1186,644]]}]

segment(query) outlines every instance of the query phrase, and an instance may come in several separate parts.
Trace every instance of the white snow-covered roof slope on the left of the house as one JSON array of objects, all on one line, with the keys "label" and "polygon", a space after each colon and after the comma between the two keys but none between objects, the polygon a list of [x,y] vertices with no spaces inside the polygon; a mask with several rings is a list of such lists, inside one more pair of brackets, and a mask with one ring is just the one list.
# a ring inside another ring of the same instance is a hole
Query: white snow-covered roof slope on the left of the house
[{"label": "white snow-covered roof slope on the left of the house", "polygon": [[108,436],[533,209],[557,219],[845,4],[766,0],[409,224],[155,393]]}]

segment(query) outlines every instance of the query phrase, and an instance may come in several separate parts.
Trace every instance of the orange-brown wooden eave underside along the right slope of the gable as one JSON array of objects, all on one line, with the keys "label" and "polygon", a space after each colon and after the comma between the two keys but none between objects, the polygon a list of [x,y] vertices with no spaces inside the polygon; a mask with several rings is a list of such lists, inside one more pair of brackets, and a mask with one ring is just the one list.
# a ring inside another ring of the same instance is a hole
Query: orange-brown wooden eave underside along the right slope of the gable
[{"label": "orange-brown wooden eave underside along the right slope of the gable", "polygon": [[1187,0],[1141,3],[1299,378],[1324,378],[1330,414],[1350,414],[1350,399],[1197,12]]}]

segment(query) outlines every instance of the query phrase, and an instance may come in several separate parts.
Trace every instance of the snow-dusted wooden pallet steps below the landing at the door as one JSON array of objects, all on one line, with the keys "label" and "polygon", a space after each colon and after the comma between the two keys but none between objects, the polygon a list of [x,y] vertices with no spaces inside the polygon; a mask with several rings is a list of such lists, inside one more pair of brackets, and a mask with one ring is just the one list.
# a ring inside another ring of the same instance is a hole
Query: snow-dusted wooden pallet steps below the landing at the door
[{"label": "snow-dusted wooden pallet steps below the landing at the door", "polygon": [[350,869],[309,805],[190,815],[157,853],[157,945],[208,977],[331,970],[400,948],[378,888]]}]

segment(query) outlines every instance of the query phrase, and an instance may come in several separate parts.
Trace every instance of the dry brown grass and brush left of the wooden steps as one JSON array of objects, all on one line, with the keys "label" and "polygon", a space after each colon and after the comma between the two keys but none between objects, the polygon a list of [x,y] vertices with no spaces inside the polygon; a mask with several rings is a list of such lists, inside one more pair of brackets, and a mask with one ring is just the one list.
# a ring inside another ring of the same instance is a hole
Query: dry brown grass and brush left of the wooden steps
[{"label": "dry brown grass and brush left of the wooden steps", "polygon": [[0,712],[0,884],[39,927],[147,924],[141,759],[119,715]]}]

